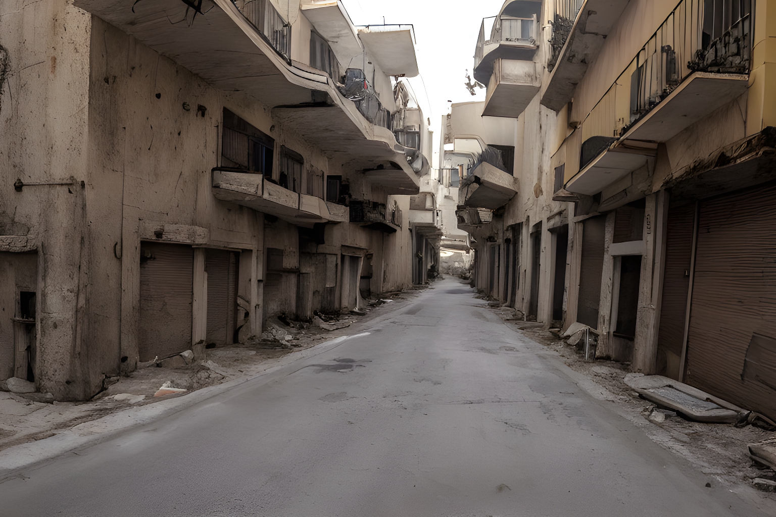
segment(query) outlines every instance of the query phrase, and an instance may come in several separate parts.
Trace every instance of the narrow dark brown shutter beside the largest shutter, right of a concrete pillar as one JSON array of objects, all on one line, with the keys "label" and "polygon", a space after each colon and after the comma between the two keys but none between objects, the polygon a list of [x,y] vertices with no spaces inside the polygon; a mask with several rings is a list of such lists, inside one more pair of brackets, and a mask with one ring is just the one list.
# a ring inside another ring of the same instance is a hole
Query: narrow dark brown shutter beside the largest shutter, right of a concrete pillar
[{"label": "narrow dark brown shutter beside the largest shutter, right of a concrete pillar", "polygon": [[[695,203],[668,210],[666,265],[663,280],[663,302],[660,308],[660,333],[657,346],[665,356],[658,357],[658,374],[677,378],[678,360],[684,339],[684,313],[690,287],[692,260],[692,226]],[[673,354],[673,355],[668,355]]]}]

